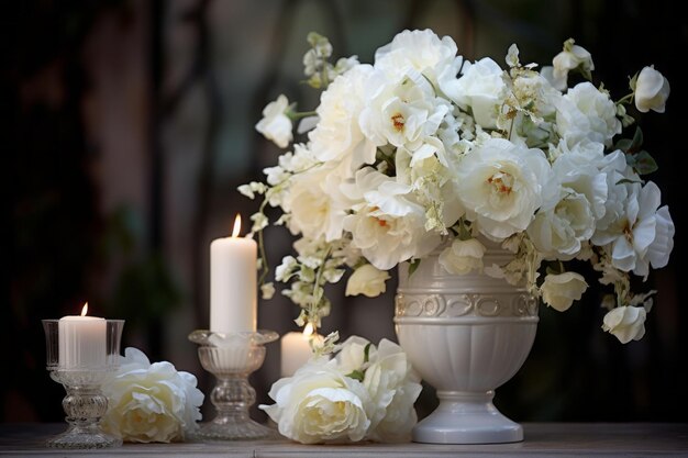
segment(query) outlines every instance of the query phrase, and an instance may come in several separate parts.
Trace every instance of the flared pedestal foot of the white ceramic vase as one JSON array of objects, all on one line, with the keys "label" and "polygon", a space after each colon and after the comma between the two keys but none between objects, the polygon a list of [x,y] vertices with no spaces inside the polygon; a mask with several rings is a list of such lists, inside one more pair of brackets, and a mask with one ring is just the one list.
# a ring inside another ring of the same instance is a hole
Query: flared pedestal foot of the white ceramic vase
[{"label": "flared pedestal foot of the white ceramic vase", "polygon": [[523,428],[492,404],[495,393],[439,391],[440,405],[413,428],[425,444],[502,444],[523,440]]}]

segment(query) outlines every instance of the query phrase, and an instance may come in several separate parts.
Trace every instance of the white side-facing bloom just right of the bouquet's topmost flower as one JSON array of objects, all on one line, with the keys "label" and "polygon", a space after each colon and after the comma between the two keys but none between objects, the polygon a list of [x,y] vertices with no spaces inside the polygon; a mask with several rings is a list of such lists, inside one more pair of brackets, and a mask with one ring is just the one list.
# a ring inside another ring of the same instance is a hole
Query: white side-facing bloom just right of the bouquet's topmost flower
[{"label": "white side-facing bloom just right of the bouquet's topmost flower", "polygon": [[485,57],[467,67],[460,78],[445,81],[442,90],[463,110],[473,110],[477,124],[484,129],[495,129],[499,109],[507,96],[499,65]]}]

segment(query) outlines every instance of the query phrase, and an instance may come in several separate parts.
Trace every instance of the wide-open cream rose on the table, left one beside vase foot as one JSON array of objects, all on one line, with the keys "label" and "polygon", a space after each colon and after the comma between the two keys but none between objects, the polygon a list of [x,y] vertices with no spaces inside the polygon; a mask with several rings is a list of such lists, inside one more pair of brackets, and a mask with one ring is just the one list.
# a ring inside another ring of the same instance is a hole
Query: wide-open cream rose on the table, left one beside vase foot
[{"label": "wide-open cream rose on the table, left one beside vase foot", "polygon": [[282,436],[302,444],[358,442],[370,425],[366,389],[337,370],[334,359],[309,361],[275,382],[269,395],[275,404],[260,409]]}]

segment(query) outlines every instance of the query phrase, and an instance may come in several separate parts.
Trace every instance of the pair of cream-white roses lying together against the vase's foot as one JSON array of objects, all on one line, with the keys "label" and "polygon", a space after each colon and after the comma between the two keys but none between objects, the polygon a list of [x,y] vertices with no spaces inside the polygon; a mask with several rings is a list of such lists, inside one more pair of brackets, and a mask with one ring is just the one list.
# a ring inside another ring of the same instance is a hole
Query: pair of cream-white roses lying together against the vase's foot
[{"label": "pair of cream-white roses lying together against the vase's foot", "polygon": [[401,347],[358,336],[339,346],[337,338],[329,335],[292,377],[276,381],[275,404],[260,409],[282,436],[302,444],[409,442],[421,384]]}]

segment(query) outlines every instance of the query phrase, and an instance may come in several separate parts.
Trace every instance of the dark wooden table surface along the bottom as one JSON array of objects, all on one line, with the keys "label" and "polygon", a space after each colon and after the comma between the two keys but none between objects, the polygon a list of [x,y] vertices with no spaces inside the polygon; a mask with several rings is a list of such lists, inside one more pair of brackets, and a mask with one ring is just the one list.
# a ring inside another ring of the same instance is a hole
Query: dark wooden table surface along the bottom
[{"label": "dark wooden table surface along the bottom", "polygon": [[525,440],[493,445],[300,445],[288,440],[124,444],[100,450],[58,450],[45,439],[62,424],[0,424],[0,456],[14,457],[688,457],[688,424],[525,423]]}]

